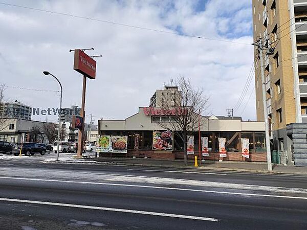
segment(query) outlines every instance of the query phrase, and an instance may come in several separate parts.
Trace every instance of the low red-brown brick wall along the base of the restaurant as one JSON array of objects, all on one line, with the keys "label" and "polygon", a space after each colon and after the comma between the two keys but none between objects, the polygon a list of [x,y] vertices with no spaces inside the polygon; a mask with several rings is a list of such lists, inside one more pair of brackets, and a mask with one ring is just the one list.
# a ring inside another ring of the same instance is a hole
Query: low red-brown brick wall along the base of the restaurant
[{"label": "low red-brown brick wall along the base of the restaurant", "polygon": [[[111,157],[111,153],[99,153],[99,156]],[[184,159],[184,153],[182,151],[157,151],[157,150],[128,150],[126,153],[112,153],[112,157],[145,157],[151,159]],[[188,159],[194,159],[195,156],[199,157],[199,153],[195,152],[194,155],[188,155]],[[247,159],[239,152],[228,152],[227,157],[222,157],[223,160],[237,161],[237,162],[267,162],[267,153],[257,152],[250,153],[250,158]],[[206,160],[219,160],[220,153],[210,152],[209,156],[204,156]]]}]

